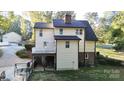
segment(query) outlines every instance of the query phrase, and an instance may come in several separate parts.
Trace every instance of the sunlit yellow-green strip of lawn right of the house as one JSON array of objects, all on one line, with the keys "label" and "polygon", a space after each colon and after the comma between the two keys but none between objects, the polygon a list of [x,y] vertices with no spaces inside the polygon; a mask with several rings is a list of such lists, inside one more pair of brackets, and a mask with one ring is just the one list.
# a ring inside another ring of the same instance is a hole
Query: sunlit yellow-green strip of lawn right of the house
[{"label": "sunlit yellow-green strip of lawn right of the house", "polygon": [[109,58],[123,60],[124,61],[124,52],[117,52],[114,49],[104,49],[104,48],[96,48],[96,51],[100,52],[100,54],[104,56],[108,56]]}]

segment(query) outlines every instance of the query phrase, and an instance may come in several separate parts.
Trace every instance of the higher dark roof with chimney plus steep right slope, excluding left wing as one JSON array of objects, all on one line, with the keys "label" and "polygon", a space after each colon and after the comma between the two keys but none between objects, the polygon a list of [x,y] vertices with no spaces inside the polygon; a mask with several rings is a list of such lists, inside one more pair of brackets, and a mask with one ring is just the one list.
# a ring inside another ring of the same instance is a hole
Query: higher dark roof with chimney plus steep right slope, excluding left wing
[{"label": "higher dark roof with chimney plus steep right slope, excluding left wing", "polygon": [[71,24],[66,24],[62,19],[55,19],[53,20],[53,25],[55,27],[85,28],[85,39],[87,41],[98,40],[89,22],[86,20],[73,20]]}]

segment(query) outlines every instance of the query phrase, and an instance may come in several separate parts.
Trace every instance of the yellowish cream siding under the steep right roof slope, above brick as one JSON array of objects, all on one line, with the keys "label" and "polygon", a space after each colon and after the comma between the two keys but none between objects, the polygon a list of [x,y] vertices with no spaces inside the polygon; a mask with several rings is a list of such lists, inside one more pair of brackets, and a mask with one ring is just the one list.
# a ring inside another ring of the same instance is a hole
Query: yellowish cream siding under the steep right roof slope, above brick
[{"label": "yellowish cream siding under the steep right roof slope, above brick", "polygon": [[85,52],[95,52],[95,41],[85,41]]}]

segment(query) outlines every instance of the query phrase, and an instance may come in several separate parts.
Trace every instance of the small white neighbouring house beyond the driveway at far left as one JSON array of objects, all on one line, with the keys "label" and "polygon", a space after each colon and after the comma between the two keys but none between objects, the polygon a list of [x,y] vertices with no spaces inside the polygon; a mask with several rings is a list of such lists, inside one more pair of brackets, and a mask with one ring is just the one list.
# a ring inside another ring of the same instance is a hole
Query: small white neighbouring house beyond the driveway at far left
[{"label": "small white neighbouring house beyond the driveway at far left", "polygon": [[15,32],[9,32],[3,35],[3,42],[19,43],[21,42],[21,40],[22,40],[21,35]]}]

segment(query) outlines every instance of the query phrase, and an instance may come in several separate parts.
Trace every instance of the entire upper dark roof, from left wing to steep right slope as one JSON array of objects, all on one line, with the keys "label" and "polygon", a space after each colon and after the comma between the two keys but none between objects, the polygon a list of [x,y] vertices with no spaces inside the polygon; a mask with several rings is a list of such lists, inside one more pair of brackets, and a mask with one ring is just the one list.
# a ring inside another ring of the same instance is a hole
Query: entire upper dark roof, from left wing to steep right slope
[{"label": "entire upper dark roof, from left wing to steep right slope", "polygon": [[91,28],[87,20],[72,20],[71,24],[67,24],[62,19],[54,19],[53,24],[48,24],[44,22],[36,22],[34,28],[37,29],[50,29],[54,27],[63,27],[63,28],[84,28],[85,29],[85,40],[87,41],[97,41],[93,29]]}]

